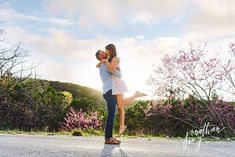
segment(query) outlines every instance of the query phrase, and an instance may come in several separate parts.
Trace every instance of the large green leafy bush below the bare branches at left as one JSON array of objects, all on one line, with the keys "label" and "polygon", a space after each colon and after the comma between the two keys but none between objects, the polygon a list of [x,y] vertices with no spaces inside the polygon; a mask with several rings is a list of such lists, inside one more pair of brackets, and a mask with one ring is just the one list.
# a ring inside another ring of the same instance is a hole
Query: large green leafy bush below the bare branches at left
[{"label": "large green leafy bush below the bare branches at left", "polygon": [[6,93],[0,100],[2,128],[56,130],[70,105],[62,92],[37,79],[25,79]]}]

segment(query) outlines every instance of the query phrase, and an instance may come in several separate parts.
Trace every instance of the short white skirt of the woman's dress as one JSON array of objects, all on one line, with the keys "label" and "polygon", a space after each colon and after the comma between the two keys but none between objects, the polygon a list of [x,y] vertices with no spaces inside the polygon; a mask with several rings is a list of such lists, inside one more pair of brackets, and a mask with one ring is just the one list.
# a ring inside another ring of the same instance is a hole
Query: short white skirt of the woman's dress
[{"label": "short white skirt of the woman's dress", "polygon": [[[120,58],[118,59],[120,62]],[[117,66],[119,67],[119,64]],[[128,89],[124,80],[121,77],[112,75],[112,94],[113,95],[124,94],[127,91]]]}]

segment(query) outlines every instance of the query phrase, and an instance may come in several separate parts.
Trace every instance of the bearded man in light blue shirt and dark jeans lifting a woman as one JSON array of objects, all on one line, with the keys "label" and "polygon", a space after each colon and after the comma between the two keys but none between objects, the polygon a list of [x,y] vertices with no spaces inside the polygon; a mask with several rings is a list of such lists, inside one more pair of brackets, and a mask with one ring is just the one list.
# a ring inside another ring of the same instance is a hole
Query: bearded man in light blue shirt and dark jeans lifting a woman
[{"label": "bearded man in light blue shirt and dark jeans lifting a woman", "polygon": [[[96,52],[96,58],[101,61],[107,59],[107,54],[99,50]],[[108,72],[105,64],[101,64],[99,68],[100,78],[103,83],[103,97],[107,104],[108,117],[105,124],[105,144],[120,144],[121,141],[113,138],[113,122],[116,111],[117,99],[116,95],[112,95],[112,75],[121,77],[120,71],[115,70],[112,74]]]}]

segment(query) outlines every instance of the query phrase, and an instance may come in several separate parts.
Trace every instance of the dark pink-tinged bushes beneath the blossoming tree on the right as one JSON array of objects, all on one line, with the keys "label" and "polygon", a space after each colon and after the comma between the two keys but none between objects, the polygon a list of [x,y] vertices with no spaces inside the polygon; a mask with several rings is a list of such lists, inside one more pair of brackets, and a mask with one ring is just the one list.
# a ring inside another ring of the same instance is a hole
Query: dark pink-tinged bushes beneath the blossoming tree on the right
[{"label": "dark pink-tinged bushes beneath the blossoming tree on the right", "polygon": [[[201,129],[204,124],[218,126],[223,131],[218,137],[234,136],[235,105],[221,100],[212,101],[213,108],[222,117],[221,120],[211,115],[208,107],[195,97],[184,100],[167,99],[152,101],[145,109],[146,121],[154,135],[185,136],[187,131]],[[223,121],[223,125],[220,123]]]}]

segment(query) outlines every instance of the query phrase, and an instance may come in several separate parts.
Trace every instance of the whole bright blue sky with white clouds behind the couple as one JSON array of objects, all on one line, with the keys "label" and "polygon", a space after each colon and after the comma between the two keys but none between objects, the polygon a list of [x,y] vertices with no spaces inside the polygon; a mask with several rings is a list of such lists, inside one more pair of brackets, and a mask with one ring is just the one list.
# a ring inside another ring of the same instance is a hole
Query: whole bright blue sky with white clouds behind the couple
[{"label": "whole bright blue sky with white clouds behind the couple", "polygon": [[0,0],[0,21],[41,79],[101,90],[95,53],[113,43],[129,93],[150,95],[163,55],[235,41],[234,8],[234,0]]}]

